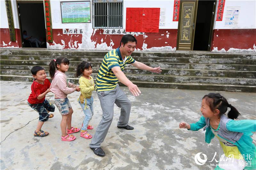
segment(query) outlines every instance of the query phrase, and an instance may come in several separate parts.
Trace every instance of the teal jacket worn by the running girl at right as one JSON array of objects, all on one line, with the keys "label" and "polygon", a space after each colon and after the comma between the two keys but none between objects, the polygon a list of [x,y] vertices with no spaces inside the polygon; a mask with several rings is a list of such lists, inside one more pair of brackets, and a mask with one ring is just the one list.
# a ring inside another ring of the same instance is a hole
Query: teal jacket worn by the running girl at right
[{"label": "teal jacket worn by the running girl at right", "polygon": [[[220,121],[221,123],[221,121]],[[191,123],[190,124],[190,129],[189,130],[193,130],[193,131],[197,131],[199,129],[202,129],[206,126],[206,121],[204,116],[201,116],[200,120],[196,123]],[[220,125],[221,126],[221,125]],[[256,120],[239,120],[239,121],[234,121],[232,119],[230,119],[227,123],[226,123],[226,127],[227,130],[230,132],[240,132],[243,133],[243,135],[240,137],[239,140],[237,140],[235,143],[231,142],[230,140],[228,140],[225,137],[221,137],[219,134],[218,136],[235,144],[240,153],[242,155],[251,155],[252,158],[252,168],[256,168],[256,158],[255,158],[255,145],[252,143],[252,132],[256,131]],[[208,126],[206,128],[206,132],[205,132],[205,142],[210,144],[212,138],[214,138],[214,134],[212,133],[212,130],[210,128],[210,126]],[[251,169],[251,168],[246,168],[246,169]]]}]

